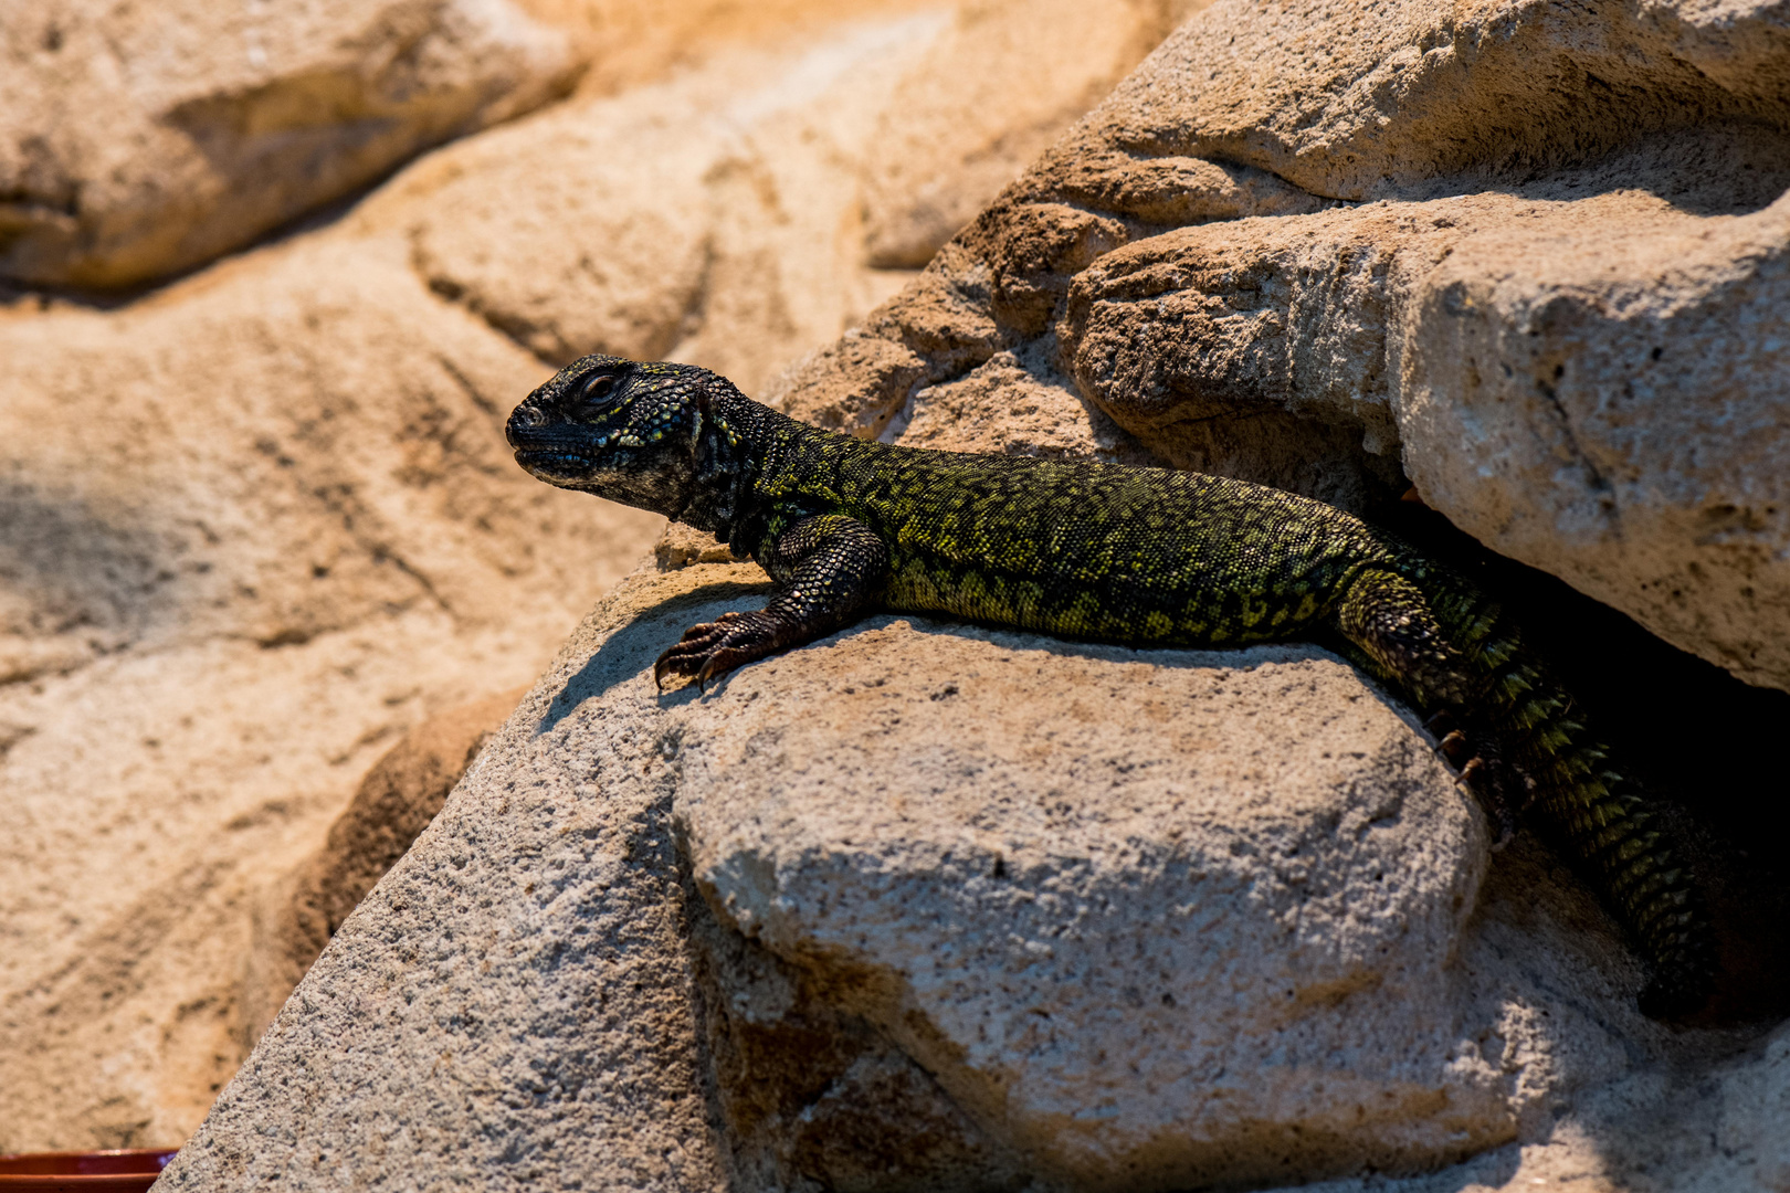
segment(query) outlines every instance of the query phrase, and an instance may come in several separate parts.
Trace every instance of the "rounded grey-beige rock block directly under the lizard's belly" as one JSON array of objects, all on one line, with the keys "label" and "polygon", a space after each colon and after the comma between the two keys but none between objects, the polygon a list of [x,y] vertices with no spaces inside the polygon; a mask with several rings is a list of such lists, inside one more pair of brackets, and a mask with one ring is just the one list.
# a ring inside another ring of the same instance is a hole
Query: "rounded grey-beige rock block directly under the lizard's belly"
[{"label": "rounded grey-beige rock block directly under the lizard's belly", "polygon": [[1330,658],[882,621],[741,674],[677,751],[709,901],[1053,1184],[1398,1168],[1514,1132],[1445,964],[1482,825]]}]

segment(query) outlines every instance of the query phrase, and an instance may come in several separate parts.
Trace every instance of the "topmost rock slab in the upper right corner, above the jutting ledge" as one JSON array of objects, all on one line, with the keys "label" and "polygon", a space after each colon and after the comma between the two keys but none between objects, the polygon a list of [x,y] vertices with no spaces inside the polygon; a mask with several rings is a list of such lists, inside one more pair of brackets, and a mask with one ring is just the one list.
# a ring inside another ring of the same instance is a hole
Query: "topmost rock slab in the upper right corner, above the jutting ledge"
[{"label": "topmost rock slab in the upper right corner, above the jutting ledge", "polygon": [[1779,0],[1233,0],[1095,118],[1135,154],[1257,166],[1332,199],[1479,190],[1727,120],[1790,123]]}]

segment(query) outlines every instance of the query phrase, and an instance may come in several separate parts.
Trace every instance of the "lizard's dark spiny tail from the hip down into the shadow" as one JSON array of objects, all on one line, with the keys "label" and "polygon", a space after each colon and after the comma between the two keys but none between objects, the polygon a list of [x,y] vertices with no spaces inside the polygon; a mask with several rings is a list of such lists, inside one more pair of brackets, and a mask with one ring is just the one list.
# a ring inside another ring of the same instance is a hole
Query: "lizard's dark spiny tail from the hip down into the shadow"
[{"label": "lizard's dark spiny tail from the hip down into the shadow", "polygon": [[1425,572],[1362,572],[1337,605],[1337,628],[1419,706],[1462,714],[1496,740],[1529,787],[1529,810],[1579,860],[1649,962],[1641,1011],[1677,1018],[1700,1009],[1715,984],[1713,930],[1656,810],[1504,610],[1466,583]]}]

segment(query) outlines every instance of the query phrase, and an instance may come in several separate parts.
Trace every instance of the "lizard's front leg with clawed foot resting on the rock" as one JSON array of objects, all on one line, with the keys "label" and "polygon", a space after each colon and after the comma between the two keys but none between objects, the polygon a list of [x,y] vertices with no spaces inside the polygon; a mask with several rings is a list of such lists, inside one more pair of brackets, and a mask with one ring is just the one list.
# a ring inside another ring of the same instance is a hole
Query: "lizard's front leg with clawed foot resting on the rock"
[{"label": "lizard's front leg with clawed foot resting on the rock", "polygon": [[882,592],[890,549],[863,522],[820,513],[795,522],[761,549],[759,563],[777,581],[763,610],[721,613],[691,626],[653,664],[653,683],[666,674],[707,683],[755,658],[822,639],[868,612]]}]

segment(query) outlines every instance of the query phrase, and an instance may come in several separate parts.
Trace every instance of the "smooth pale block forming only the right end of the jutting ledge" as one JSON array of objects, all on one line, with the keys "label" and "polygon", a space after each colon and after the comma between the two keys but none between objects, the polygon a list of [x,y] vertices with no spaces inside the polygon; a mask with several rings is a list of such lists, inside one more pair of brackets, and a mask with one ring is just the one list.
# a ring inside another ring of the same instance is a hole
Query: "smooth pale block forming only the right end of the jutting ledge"
[{"label": "smooth pale block forming only the right end of the jutting ledge", "polygon": [[1790,689],[1790,195],[1487,229],[1405,318],[1398,420],[1425,501]]}]

